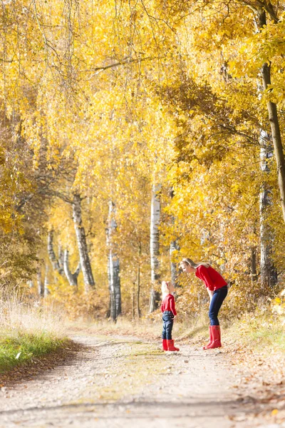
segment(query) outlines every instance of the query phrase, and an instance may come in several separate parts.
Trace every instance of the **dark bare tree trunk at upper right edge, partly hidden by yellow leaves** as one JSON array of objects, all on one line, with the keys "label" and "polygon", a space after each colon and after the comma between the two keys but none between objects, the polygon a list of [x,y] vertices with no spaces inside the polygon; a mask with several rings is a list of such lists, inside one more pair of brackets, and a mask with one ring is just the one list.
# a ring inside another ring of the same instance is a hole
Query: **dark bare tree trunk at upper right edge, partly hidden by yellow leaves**
[{"label": "dark bare tree trunk at upper right edge, partly hidden by yellow leaves", "polygon": [[[266,26],[266,13],[264,9],[260,9],[258,12],[258,25],[259,30]],[[266,91],[268,86],[271,85],[271,66],[269,63],[264,63],[264,65],[261,67],[261,76],[264,91]],[[269,123],[271,127],[271,135],[274,145],[281,208],[285,222],[285,158],[281,141],[281,132],[279,127],[279,118],[276,103],[273,103],[272,101],[267,101],[267,110],[269,113]]]}]

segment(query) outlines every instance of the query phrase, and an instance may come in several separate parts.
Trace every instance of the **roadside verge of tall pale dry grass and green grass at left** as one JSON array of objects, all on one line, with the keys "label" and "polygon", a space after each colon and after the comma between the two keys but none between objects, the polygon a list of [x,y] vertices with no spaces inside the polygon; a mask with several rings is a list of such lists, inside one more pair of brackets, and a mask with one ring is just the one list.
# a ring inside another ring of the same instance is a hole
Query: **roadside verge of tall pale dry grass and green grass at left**
[{"label": "roadside verge of tall pale dry grass and green grass at left", "polygon": [[0,373],[65,344],[63,322],[54,307],[16,299],[0,302]]}]

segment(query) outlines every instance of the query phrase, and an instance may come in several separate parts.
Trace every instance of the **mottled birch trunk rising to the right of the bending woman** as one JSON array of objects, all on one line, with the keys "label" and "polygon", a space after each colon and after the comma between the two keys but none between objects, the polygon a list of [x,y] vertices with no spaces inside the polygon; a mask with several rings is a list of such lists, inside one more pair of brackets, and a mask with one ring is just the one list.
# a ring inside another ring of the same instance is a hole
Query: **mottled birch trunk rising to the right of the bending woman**
[{"label": "mottled birch trunk rising to the right of the bending woman", "polygon": [[[260,166],[263,173],[269,173],[268,161],[272,158],[272,148],[269,137],[265,131],[261,131]],[[274,262],[271,258],[274,232],[268,224],[266,210],[271,205],[271,188],[266,183],[262,185],[259,198],[260,213],[260,280],[261,287],[273,287],[277,282],[277,273]]]}]

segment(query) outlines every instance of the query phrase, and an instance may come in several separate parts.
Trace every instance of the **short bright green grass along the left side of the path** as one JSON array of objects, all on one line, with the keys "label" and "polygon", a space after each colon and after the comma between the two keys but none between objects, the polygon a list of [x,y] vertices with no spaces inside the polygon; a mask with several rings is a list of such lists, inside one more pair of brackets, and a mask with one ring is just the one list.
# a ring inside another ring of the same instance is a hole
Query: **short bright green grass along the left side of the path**
[{"label": "short bright green grass along the left side of the path", "polygon": [[0,338],[0,372],[6,372],[16,365],[33,360],[57,350],[65,345],[66,339],[53,337],[41,332],[38,334],[19,333]]}]

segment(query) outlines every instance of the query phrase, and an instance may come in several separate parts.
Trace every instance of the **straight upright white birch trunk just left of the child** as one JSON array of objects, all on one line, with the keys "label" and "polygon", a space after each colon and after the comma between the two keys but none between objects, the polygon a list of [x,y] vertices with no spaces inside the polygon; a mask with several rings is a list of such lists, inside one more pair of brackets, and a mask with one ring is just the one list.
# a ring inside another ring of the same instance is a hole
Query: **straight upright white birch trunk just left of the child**
[{"label": "straight upright white birch trunk just left of the child", "polygon": [[150,208],[150,268],[151,268],[151,290],[150,290],[150,313],[157,309],[160,293],[155,291],[155,286],[160,280],[160,191],[161,185],[152,185],[152,199]]}]

